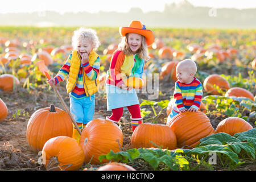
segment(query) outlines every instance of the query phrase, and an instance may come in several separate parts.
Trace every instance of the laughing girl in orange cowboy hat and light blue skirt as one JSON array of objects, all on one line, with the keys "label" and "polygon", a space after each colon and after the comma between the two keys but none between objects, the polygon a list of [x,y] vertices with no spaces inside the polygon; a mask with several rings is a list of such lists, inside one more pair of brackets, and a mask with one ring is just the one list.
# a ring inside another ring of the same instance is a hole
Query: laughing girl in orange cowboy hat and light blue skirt
[{"label": "laughing girl in orange cowboy hat and light blue skirt", "polygon": [[107,107],[112,110],[106,119],[117,123],[127,108],[134,131],[142,123],[141,109],[135,89],[127,87],[125,81],[130,76],[142,78],[144,62],[150,58],[147,46],[154,42],[154,34],[139,20],[131,21],[129,27],[120,27],[119,33],[122,40],[113,53],[106,78]]}]

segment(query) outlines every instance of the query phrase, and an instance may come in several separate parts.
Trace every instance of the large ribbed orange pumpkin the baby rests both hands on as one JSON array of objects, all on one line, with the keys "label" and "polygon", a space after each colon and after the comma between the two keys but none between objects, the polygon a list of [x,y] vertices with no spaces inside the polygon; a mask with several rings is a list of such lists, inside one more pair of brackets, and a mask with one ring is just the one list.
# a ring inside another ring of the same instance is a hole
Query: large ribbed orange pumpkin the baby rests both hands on
[{"label": "large ribbed orange pumpkin the baby rests both hands on", "polygon": [[177,114],[166,125],[174,131],[178,148],[195,147],[201,138],[214,133],[209,118],[201,111]]}]

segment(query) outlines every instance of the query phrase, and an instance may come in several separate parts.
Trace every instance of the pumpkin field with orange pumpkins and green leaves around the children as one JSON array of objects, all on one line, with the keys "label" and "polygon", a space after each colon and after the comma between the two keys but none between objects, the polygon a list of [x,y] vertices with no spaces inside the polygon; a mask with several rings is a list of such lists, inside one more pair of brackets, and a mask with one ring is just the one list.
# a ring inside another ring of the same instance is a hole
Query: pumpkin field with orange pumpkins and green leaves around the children
[{"label": "pumpkin field with orange pumpkins and green leaves around the children", "polygon": [[[77,142],[71,118],[36,65],[43,60],[54,77],[76,28],[0,27],[0,170],[256,170],[255,30],[152,28],[146,92],[138,90],[143,124],[133,132],[129,111],[118,125],[105,120],[112,114],[105,76],[120,36],[118,28],[96,27],[99,92],[94,119]],[[200,111],[167,121],[176,65],[187,58],[203,85]],[[69,107],[65,81],[57,89]]]}]

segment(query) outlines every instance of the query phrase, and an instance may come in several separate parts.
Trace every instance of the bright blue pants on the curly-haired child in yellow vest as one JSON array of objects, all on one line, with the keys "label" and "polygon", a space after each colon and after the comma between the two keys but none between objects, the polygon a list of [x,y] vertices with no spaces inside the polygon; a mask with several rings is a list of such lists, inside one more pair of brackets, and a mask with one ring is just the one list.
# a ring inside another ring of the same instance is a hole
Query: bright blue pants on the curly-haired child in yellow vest
[{"label": "bright blue pants on the curly-haired child in yellow vest", "polygon": [[[91,98],[91,100],[90,100]],[[70,96],[70,112],[77,123],[92,121],[95,108],[95,95],[77,99]]]}]

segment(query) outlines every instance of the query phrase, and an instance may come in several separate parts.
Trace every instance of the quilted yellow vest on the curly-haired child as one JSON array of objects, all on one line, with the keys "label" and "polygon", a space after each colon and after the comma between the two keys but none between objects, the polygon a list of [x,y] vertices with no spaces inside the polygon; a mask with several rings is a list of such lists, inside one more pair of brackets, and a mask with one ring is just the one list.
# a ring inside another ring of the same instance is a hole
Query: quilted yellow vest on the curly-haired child
[{"label": "quilted yellow vest on the curly-haired child", "polygon": [[[97,57],[98,57],[97,53],[95,53],[94,51],[90,52],[90,55],[89,55],[90,66],[94,64]],[[71,92],[76,86],[80,65],[81,65],[81,59],[78,55],[77,50],[74,50],[72,52],[68,81],[66,85],[68,93]],[[86,96],[91,96],[92,94],[98,91],[98,87],[97,87],[97,85],[99,84],[98,77],[96,78],[96,80],[90,80],[90,78],[86,75],[84,69],[82,69],[82,81],[84,83],[84,90],[85,90]]]}]

